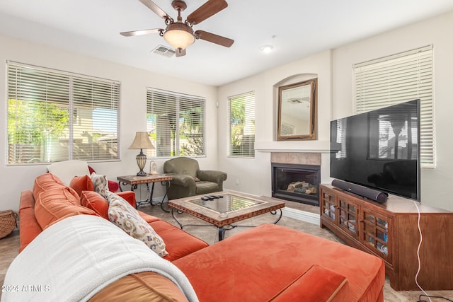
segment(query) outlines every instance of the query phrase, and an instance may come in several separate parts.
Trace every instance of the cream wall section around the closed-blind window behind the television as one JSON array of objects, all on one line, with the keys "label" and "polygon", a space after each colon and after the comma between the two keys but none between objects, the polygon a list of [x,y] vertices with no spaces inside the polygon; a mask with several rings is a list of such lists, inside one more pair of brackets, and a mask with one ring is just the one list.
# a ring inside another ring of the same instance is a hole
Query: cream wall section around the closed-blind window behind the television
[{"label": "cream wall section around the closed-blind window behind the television", "polygon": [[421,170],[421,201],[453,211],[453,12],[333,51],[333,118],[352,115],[352,64],[434,45],[437,166]]}]

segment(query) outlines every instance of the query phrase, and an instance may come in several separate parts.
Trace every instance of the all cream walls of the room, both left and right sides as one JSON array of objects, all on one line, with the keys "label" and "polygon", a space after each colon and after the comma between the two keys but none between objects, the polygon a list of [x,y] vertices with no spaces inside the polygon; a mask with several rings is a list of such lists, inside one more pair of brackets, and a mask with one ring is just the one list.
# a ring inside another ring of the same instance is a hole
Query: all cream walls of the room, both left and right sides
[{"label": "all cream walls of the room, both left and right sides", "polygon": [[[328,178],[329,121],[352,114],[352,64],[396,52],[433,44],[435,59],[435,139],[437,167],[422,170],[422,202],[453,211],[453,12],[415,23],[365,40],[320,52],[241,81],[215,88],[134,69],[112,62],[57,50],[0,36],[0,141],[6,146],[6,70],[8,59],[80,74],[119,80],[121,90],[122,160],[95,163],[94,168],[108,178],[137,172],[136,150],[127,150],[134,132],[146,129],[146,87],[201,95],[207,98],[207,157],[199,158],[202,168],[219,168],[228,173],[225,187],[251,194],[270,195],[270,152],[304,151],[321,153],[321,180]],[[272,59],[272,57],[270,57]],[[277,93],[281,81],[298,74],[318,76],[318,140],[275,141]],[[256,93],[256,158],[229,158],[227,98],[231,95]],[[219,102],[219,107],[215,104]],[[22,190],[32,187],[35,176],[45,173],[45,166],[6,166],[5,147],[0,151],[0,181],[4,184],[1,209],[17,209]],[[159,170],[163,160],[157,161]],[[160,187],[159,185],[156,187]],[[160,189],[160,188],[159,188]],[[156,192],[161,196],[161,190]]]}]

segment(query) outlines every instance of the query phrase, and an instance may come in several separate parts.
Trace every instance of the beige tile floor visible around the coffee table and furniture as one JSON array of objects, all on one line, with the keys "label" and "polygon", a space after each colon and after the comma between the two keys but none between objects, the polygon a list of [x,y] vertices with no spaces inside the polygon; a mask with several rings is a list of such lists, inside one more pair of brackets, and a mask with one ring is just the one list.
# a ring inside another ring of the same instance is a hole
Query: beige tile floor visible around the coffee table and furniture
[{"label": "beige tile floor visible around the coffee table and furniture", "polygon": [[[306,204],[298,204],[295,202],[287,202],[287,207],[292,207],[295,209],[301,209],[303,211],[309,211],[312,213],[318,213],[319,207],[312,207]],[[171,214],[165,213],[161,210],[160,207],[151,207],[149,205],[140,207],[141,211],[144,211],[148,214],[159,216],[161,219],[164,219],[173,225],[177,226],[176,221],[173,219]],[[193,216],[188,214],[177,214],[178,219],[183,222],[183,224],[204,224],[206,227],[202,226],[188,226],[185,231],[188,233],[192,233],[194,236],[205,240],[209,244],[214,244],[218,241],[217,238],[217,229],[214,226],[210,226],[208,223],[204,223],[200,221],[200,219],[196,219]],[[238,225],[242,226],[256,226],[260,223],[265,222],[273,222],[275,221],[275,216],[271,214],[263,214],[261,216],[257,216],[251,219],[247,219],[246,221],[242,221],[241,223],[237,223]],[[313,223],[307,223],[304,221],[299,221],[295,219],[290,219],[287,217],[282,217],[282,219],[278,222],[281,226],[287,226],[288,228],[294,228],[299,231],[303,231],[306,233],[311,233],[315,236],[320,236],[323,238],[327,238],[329,240],[334,240],[337,242],[342,242],[339,238],[337,238],[331,231],[327,229],[319,228],[319,226]],[[246,227],[238,227],[233,228],[229,231],[226,231],[225,237],[234,236],[235,233],[239,233],[243,230],[246,230]],[[5,238],[0,239],[0,284],[4,283],[4,276],[6,274],[6,270],[8,269],[9,264],[11,261],[18,255],[18,248],[19,248],[19,231],[15,230],[10,235],[6,236]],[[406,302],[406,301],[418,301],[419,295],[423,294],[422,291],[394,291],[391,289],[389,280],[386,279],[386,283],[384,284],[384,301],[388,302]],[[431,296],[443,296],[445,298],[449,298],[453,300],[453,291],[428,291],[427,294]],[[0,292],[1,297],[1,292]],[[429,301],[428,298],[425,298],[425,301]],[[440,302],[445,301],[442,298],[431,298],[432,302]]]}]

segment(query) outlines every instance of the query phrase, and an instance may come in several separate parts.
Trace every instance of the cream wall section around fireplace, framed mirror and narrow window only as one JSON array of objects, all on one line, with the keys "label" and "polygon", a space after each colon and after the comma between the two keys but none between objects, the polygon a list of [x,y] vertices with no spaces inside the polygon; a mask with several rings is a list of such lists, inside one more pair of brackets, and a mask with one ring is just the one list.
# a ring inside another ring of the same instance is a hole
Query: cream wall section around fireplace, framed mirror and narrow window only
[{"label": "cream wall section around fireplace, framed mirror and narrow window only", "polygon": [[[269,59],[272,59],[270,56]],[[276,141],[278,83],[301,74],[318,76],[318,140]],[[228,97],[255,91],[255,158],[228,157]],[[331,120],[331,52],[321,52],[219,87],[219,168],[228,173],[224,187],[250,194],[271,194],[270,152],[321,151],[321,180],[328,182],[328,140]]]}]

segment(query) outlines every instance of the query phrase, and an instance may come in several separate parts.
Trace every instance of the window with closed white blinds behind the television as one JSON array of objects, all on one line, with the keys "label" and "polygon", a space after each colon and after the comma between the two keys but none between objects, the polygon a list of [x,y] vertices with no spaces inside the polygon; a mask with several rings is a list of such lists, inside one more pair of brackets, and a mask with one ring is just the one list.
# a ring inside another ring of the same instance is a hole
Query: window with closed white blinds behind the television
[{"label": "window with closed white blinds behind the television", "polygon": [[420,98],[422,168],[435,167],[432,66],[432,45],[353,66],[355,113]]}]

